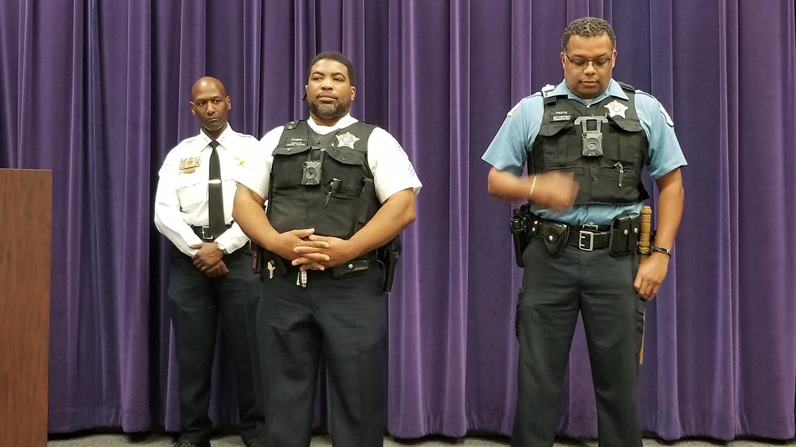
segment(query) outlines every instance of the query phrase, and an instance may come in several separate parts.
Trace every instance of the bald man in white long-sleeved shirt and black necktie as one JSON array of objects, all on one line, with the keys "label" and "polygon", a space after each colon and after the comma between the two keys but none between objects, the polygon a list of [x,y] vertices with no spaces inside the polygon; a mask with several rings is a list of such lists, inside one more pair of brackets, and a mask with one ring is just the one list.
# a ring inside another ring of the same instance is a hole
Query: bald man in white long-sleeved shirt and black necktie
[{"label": "bald man in white long-sleeved shirt and black necktie", "polygon": [[259,358],[254,318],[259,281],[250,266],[248,238],[232,221],[232,180],[257,140],[228,126],[232,102],[224,84],[203,77],[191,89],[191,112],[201,132],[166,156],[155,196],[154,222],[174,244],[169,308],[176,344],[180,447],[206,446],[211,373],[220,321],[235,368],[240,436],[263,445]]}]

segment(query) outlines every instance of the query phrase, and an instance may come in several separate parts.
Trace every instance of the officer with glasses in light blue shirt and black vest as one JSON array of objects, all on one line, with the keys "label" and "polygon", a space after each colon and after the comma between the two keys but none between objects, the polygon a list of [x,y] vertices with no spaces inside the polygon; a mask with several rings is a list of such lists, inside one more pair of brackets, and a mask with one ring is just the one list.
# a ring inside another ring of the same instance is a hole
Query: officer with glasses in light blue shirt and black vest
[{"label": "officer with glasses in light blue shirt and black vest", "polygon": [[[520,358],[512,445],[553,444],[580,313],[599,445],[641,446],[638,316],[668,269],[683,209],[685,157],[661,103],[611,78],[617,52],[607,21],[572,21],[560,57],[564,82],[513,107],[483,155],[492,165],[490,194],[529,202],[520,213],[527,247],[521,251],[516,316]],[[529,174],[522,177],[525,165]],[[659,189],[657,235],[639,265],[645,167]]]}]

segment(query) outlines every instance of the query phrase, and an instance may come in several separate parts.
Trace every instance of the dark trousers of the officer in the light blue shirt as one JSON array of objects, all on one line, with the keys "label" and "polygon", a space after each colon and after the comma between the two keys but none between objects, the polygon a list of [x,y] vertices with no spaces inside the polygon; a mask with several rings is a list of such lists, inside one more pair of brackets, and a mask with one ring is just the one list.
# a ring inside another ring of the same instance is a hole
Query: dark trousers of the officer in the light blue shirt
[{"label": "dark trousers of the officer in the light blue shirt", "polygon": [[641,447],[637,372],[639,317],[634,255],[566,247],[558,258],[533,239],[517,303],[517,410],[511,445],[548,447],[578,314],[586,332],[601,447]]}]

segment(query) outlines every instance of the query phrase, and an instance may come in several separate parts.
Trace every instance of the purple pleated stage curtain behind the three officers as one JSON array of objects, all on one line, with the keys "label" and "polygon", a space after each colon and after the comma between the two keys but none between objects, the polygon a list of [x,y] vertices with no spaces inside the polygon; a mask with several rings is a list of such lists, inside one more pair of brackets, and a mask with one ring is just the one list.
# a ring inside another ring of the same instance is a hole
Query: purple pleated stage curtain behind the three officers
[{"label": "purple pleated stage curtain behind the three officers", "polygon": [[[689,160],[685,216],[648,306],[640,410],[676,439],[794,437],[794,0],[6,0],[0,167],[53,169],[51,432],[177,430],[158,168],[196,134],[209,74],[260,137],[305,117],[306,68],[341,50],[353,115],[399,139],[425,185],[389,297],[388,430],[510,433],[519,286],[510,205],[480,157],[519,99],[562,78],[576,17],[615,26],[615,78],[656,95]],[[47,266],[42,266],[47,268]],[[2,297],[14,299],[14,297]],[[223,353],[212,417],[236,420]],[[4,365],[6,367],[6,365]],[[560,433],[595,437],[579,329]]]}]

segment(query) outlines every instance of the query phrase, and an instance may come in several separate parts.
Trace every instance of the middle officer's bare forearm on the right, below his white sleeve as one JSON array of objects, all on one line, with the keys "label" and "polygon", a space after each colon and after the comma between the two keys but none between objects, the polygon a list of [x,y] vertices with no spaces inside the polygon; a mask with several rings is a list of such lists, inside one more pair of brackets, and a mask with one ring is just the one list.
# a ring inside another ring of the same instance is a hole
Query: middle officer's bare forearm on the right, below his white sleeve
[{"label": "middle officer's bare forearm on the right, below his white sleeve", "polygon": [[354,257],[383,246],[414,221],[415,192],[411,188],[396,192],[381,205],[373,219],[349,239]]}]

